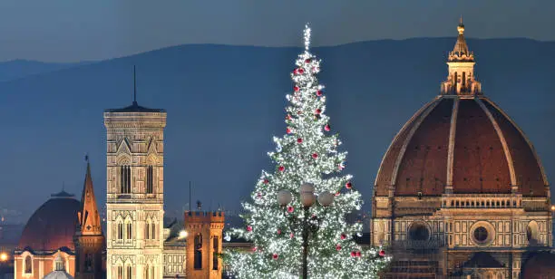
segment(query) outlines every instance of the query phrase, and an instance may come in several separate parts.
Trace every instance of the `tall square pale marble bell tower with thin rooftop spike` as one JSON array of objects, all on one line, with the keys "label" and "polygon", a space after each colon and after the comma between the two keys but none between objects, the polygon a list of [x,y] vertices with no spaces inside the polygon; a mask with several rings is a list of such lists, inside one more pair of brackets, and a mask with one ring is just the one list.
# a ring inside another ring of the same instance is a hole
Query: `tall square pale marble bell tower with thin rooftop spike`
[{"label": "tall square pale marble bell tower with thin rooftop spike", "polygon": [[107,277],[161,279],[166,111],[141,107],[134,88],[131,106],[104,111]]}]

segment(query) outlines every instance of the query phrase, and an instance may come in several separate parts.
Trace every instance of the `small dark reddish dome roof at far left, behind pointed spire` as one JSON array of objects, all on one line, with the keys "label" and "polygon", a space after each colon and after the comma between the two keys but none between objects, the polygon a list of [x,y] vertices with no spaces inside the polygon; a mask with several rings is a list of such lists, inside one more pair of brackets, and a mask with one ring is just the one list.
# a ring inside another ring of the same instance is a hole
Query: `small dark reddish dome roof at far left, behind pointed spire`
[{"label": "small dark reddish dome roof at far left, behind pointed spire", "polygon": [[34,251],[55,251],[61,247],[74,250],[73,235],[81,203],[64,191],[52,195],[34,211],[24,227],[18,247]]}]

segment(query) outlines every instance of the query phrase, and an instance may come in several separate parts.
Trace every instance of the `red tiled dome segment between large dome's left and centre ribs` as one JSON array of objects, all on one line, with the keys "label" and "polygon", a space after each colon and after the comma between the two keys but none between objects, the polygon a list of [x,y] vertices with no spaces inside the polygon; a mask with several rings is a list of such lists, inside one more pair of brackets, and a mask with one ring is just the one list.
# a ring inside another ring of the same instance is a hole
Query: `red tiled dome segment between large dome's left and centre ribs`
[{"label": "red tiled dome segment between large dome's left and centre ribs", "polygon": [[453,99],[441,99],[407,139],[395,179],[396,196],[443,194],[452,111]]}]

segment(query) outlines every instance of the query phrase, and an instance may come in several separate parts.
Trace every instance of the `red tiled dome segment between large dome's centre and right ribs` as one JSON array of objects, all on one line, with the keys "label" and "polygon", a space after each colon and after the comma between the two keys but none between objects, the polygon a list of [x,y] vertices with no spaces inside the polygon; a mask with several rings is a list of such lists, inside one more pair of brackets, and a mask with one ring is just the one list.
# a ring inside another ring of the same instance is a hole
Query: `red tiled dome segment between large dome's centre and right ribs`
[{"label": "red tiled dome segment between large dome's centre and right ribs", "polygon": [[474,100],[460,100],[453,150],[455,194],[511,193],[509,165],[501,139]]}]

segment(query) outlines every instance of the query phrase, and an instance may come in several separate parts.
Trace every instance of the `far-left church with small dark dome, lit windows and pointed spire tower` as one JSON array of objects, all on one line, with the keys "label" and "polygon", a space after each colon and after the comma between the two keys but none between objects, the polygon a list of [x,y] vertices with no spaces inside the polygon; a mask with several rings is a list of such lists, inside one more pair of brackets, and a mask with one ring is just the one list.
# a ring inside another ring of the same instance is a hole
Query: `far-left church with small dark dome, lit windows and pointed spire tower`
[{"label": "far-left church with small dark dome, lit windows and pointed spire tower", "polygon": [[14,253],[14,277],[42,279],[63,268],[75,278],[99,278],[104,276],[103,250],[104,236],[87,161],[81,201],[62,191],[52,195],[27,221]]}]

